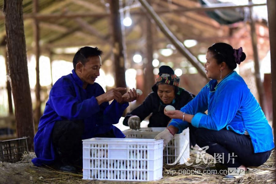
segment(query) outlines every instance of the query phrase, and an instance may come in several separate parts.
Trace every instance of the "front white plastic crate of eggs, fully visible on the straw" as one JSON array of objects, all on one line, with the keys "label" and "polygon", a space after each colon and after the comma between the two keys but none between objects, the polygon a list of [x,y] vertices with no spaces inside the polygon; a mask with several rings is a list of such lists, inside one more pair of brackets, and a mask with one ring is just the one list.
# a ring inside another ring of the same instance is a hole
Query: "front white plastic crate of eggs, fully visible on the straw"
[{"label": "front white plastic crate of eggs, fully visible on the straw", "polygon": [[162,178],[163,140],[82,140],[83,179],[153,181]]}]

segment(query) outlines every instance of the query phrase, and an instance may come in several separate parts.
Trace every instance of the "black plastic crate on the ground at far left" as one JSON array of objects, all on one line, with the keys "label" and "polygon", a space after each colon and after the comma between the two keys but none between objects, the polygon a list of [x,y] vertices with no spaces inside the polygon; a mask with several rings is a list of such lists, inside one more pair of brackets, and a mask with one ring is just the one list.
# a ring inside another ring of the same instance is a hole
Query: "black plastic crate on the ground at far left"
[{"label": "black plastic crate on the ground at far left", "polygon": [[27,137],[0,141],[0,162],[19,162],[24,152],[29,153]]}]

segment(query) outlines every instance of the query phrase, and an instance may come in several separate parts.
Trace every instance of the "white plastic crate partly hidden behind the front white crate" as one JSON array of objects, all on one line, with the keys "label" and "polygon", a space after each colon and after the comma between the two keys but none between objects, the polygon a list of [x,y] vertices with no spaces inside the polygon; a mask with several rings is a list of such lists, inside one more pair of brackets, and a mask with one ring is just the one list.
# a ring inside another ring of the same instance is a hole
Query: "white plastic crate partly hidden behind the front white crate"
[{"label": "white plastic crate partly hidden behind the front white crate", "polygon": [[[154,139],[157,134],[165,130],[166,127],[148,127],[139,130],[128,129],[123,131],[126,138]],[[182,148],[187,140],[190,144],[189,128],[182,131],[181,134],[175,134],[174,138],[166,145],[163,150],[163,162],[170,164],[178,158]],[[190,158],[189,144],[179,159],[179,164],[184,164]]]}]

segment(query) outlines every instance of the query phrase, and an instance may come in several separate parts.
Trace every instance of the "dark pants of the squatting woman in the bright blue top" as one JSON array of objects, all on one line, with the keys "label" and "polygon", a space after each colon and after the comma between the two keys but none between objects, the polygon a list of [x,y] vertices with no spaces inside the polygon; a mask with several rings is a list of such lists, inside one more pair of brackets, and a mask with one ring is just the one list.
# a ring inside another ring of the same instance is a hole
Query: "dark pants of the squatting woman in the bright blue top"
[{"label": "dark pants of the squatting woman in the bright blue top", "polygon": [[196,134],[199,147],[209,146],[206,152],[214,157],[216,162],[226,167],[260,166],[269,158],[270,151],[254,153],[249,135],[240,135],[231,130],[220,131],[189,126]]}]

